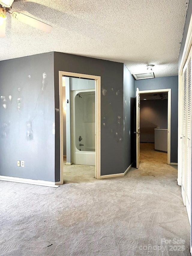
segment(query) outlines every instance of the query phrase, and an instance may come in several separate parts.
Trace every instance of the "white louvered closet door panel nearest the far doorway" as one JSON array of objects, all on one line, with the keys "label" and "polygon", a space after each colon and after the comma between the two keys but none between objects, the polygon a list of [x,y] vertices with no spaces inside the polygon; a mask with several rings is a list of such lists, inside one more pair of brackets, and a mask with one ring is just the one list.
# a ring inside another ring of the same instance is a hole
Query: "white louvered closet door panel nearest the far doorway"
[{"label": "white louvered closet door panel nearest the far doorway", "polygon": [[182,75],[182,198],[186,205],[186,103],[187,103],[187,63],[183,68]]}]

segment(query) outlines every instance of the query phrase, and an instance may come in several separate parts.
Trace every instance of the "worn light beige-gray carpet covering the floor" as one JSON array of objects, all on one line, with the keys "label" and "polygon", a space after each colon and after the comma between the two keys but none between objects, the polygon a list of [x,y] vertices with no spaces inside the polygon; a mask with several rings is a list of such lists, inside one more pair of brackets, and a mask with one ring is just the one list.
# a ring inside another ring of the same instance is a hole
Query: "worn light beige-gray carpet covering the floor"
[{"label": "worn light beige-gray carpet covering the floor", "polygon": [[[126,176],[94,174],[94,167],[65,166],[65,182],[73,183],[58,188],[0,181],[0,255],[190,255],[176,167],[141,162]],[[184,251],[174,244],[179,238]]]}]

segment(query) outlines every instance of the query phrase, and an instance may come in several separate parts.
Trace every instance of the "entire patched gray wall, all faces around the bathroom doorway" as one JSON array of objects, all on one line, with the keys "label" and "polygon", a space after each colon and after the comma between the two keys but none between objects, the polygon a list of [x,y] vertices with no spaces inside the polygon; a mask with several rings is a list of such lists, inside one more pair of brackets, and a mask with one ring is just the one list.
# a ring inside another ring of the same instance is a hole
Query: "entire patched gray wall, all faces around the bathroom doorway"
[{"label": "entire patched gray wall, all faces around the bathroom doorway", "polygon": [[123,63],[51,52],[0,62],[0,175],[60,181],[58,71],[101,76],[101,175],[124,173],[134,161],[130,72]]}]

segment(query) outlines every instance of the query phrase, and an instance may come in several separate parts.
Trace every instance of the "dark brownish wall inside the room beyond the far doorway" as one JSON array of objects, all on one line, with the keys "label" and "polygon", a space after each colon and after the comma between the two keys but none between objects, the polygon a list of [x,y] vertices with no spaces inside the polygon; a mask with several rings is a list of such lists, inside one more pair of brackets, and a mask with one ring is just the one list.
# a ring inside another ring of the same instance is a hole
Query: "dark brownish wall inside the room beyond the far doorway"
[{"label": "dark brownish wall inside the room beyond the far doorway", "polygon": [[167,129],[168,100],[140,102],[140,142],[155,142],[156,127]]}]

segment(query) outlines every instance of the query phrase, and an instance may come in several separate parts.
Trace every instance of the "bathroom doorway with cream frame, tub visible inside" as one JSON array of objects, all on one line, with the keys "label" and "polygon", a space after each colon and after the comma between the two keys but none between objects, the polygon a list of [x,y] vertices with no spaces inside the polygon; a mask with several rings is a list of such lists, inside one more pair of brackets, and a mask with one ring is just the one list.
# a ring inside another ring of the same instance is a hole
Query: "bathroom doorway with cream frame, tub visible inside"
[{"label": "bathroom doorway with cream frame, tub visible inside", "polygon": [[[63,102],[63,80],[65,83],[65,102]],[[84,84],[83,87],[82,84]],[[66,165],[71,165],[73,163],[79,164],[79,166],[81,164],[86,165],[85,162],[82,162],[82,156],[84,155],[88,165],[95,165],[95,178],[100,179],[101,77],[59,71],[59,94],[61,180],[63,180],[64,143],[66,143]],[[76,111],[74,107],[75,102],[77,104]],[[80,104],[79,106],[78,103]],[[93,108],[95,109],[94,113],[92,113],[93,111],[90,112],[90,110],[93,110]],[[83,111],[79,111],[80,109]],[[86,109],[88,112],[85,113]],[[65,130],[63,129],[63,126],[65,125],[63,122],[63,111],[66,111],[66,137],[63,133]],[[79,122],[80,119],[84,120],[84,122]],[[95,119],[95,122],[93,122],[93,119]]]}]

